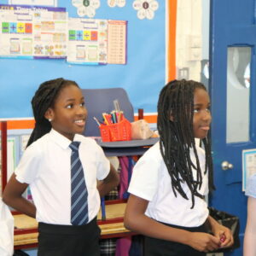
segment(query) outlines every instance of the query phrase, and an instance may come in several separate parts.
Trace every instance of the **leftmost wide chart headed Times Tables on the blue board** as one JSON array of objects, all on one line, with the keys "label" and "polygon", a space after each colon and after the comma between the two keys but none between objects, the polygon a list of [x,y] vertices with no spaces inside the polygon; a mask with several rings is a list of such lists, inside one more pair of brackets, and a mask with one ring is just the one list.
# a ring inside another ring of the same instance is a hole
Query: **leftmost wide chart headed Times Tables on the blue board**
[{"label": "leftmost wide chart headed Times Tables on the blue board", "polygon": [[0,5],[0,57],[66,58],[65,8]]}]

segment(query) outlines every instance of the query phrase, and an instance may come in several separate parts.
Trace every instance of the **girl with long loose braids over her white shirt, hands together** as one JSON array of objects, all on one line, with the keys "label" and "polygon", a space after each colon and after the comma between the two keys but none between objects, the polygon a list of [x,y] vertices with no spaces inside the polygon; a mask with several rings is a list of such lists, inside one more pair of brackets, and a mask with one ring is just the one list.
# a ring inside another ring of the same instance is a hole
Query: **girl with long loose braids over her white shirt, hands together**
[{"label": "girl with long loose braids over her white shirt, hands together", "polygon": [[211,120],[203,84],[173,80],[160,91],[160,141],[134,166],[125,211],[126,228],[145,235],[146,256],[206,255],[233,243],[231,231],[209,216],[205,201],[214,189]]}]

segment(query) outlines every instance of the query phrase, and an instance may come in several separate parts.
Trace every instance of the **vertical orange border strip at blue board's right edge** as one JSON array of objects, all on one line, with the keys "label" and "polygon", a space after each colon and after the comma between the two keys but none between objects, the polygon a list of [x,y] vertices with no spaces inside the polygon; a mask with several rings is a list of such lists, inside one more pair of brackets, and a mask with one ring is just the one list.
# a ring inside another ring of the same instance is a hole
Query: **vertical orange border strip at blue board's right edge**
[{"label": "vertical orange border strip at blue board's right edge", "polygon": [[168,81],[176,79],[176,20],[177,0],[168,1]]}]

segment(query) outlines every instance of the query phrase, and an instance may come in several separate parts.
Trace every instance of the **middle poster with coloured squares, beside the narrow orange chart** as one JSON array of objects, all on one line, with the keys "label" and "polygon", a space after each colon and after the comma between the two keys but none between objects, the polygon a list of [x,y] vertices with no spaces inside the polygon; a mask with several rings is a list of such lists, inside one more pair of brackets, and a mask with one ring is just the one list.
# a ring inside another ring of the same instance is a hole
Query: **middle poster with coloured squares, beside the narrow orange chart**
[{"label": "middle poster with coloured squares, beside the narrow orange chart", "polygon": [[75,64],[107,63],[108,21],[69,18],[67,61]]}]

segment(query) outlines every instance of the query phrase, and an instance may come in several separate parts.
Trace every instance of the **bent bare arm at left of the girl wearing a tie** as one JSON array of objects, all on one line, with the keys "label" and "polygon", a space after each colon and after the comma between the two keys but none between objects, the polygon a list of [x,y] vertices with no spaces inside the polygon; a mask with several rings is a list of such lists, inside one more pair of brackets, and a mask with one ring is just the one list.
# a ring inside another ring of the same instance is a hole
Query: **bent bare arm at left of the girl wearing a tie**
[{"label": "bent bare arm at left of the girl wearing a tie", "polygon": [[3,202],[18,212],[36,218],[36,207],[22,196],[27,186],[27,183],[18,182],[14,173],[3,191]]}]

